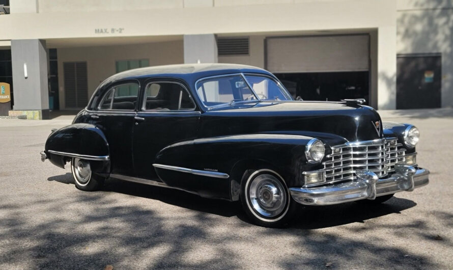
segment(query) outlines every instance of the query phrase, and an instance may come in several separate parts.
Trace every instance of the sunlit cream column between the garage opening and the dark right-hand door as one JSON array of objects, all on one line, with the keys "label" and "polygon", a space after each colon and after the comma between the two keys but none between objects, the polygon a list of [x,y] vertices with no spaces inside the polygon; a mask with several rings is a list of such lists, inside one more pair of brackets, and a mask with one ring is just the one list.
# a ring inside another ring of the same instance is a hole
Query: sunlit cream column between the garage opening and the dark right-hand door
[{"label": "sunlit cream column between the garage opening and the dark right-hand door", "polygon": [[378,110],[397,109],[397,28],[378,29]]}]

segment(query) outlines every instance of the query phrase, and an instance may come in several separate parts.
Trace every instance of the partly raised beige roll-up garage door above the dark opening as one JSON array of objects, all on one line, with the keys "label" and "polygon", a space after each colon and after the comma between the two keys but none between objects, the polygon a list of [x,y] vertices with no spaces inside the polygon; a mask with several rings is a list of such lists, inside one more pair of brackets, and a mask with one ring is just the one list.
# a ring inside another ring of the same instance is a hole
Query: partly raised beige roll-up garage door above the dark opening
[{"label": "partly raised beige roll-up garage door above the dark opening", "polygon": [[367,71],[370,36],[269,37],[265,65],[274,73]]}]

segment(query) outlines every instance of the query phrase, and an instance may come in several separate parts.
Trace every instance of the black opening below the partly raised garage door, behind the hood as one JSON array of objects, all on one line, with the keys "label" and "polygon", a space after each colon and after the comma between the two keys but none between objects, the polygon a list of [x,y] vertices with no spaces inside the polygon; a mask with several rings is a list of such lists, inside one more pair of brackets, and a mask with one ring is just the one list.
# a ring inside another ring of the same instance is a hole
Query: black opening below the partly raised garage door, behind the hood
[{"label": "black opening below the partly raised garage door, behind the hood", "polygon": [[277,73],[275,76],[294,98],[321,101],[364,98],[366,104],[370,102],[368,71]]}]

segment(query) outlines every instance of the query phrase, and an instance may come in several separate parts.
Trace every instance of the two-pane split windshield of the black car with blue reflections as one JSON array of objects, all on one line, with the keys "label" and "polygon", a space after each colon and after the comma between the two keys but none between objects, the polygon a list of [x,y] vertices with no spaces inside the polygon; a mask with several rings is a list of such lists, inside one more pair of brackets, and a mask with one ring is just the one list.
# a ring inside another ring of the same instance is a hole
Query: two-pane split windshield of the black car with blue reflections
[{"label": "two-pane split windshield of the black car with blue reflections", "polygon": [[245,75],[245,78],[247,82],[241,74],[201,79],[196,83],[196,93],[207,107],[233,102],[292,100],[285,88],[269,77]]}]

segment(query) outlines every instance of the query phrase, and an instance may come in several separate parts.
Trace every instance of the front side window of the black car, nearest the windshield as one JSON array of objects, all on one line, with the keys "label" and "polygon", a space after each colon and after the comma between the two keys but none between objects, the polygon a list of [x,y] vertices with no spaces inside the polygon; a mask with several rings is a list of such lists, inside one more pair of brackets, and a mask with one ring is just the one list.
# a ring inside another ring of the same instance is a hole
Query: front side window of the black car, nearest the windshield
[{"label": "front side window of the black car, nearest the windshield", "polygon": [[145,89],[145,111],[193,111],[193,103],[187,89],[175,82],[153,82]]}]

